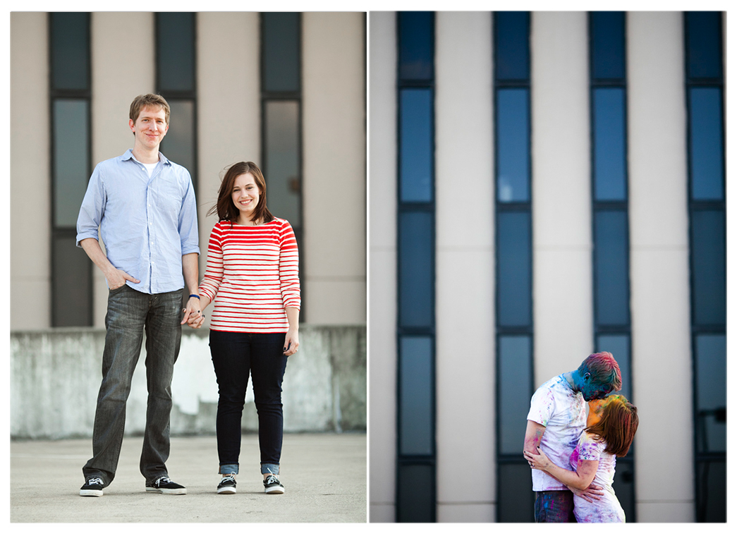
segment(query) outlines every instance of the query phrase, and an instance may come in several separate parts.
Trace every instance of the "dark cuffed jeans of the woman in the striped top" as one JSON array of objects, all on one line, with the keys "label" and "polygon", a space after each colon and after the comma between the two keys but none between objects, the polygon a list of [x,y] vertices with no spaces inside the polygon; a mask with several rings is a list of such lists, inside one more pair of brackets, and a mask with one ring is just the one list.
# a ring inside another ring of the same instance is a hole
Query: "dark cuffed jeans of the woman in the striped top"
[{"label": "dark cuffed jeans of the woman in the striped top", "polygon": [[221,474],[238,473],[240,421],[248,376],[259,415],[262,474],[279,474],[284,414],[282,380],[287,369],[284,333],[233,333],[210,330],[210,353],[217,377],[217,456]]}]

